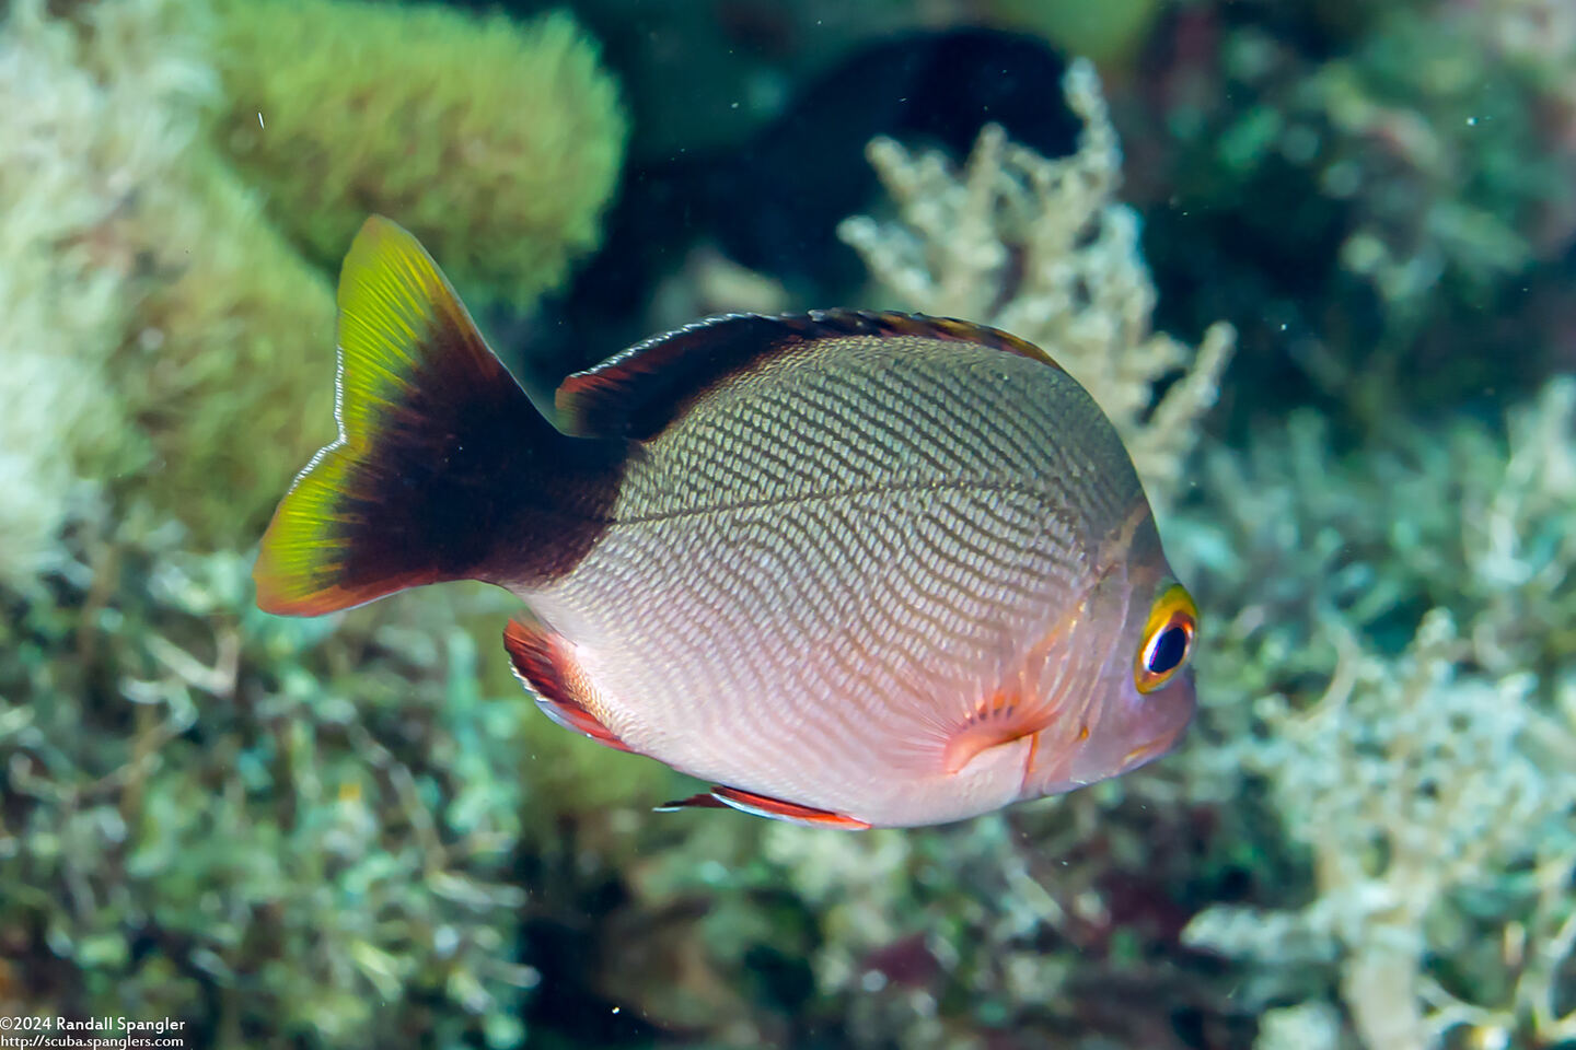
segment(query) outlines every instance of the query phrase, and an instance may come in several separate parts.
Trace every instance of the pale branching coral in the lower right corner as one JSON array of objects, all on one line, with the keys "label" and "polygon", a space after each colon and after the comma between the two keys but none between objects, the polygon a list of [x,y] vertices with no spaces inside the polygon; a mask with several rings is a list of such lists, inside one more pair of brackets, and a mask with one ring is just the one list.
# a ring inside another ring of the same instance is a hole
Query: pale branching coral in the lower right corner
[{"label": "pale branching coral in the lower right corner", "polygon": [[[1530,864],[1554,900],[1576,878],[1576,781],[1559,776],[1576,762],[1576,726],[1529,704],[1529,675],[1463,674],[1466,647],[1444,611],[1395,661],[1363,652],[1336,623],[1330,633],[1340,655],[1324,697],[1305,712],[1264,701],[1266,738],[1239,752],[1272,781],[1286,826],[1311,849],[1319,896],[1294,915],[1214,908],[1188,937],[1280,963],[1338,956],[1341,996],[1368,1047],[1420,1050],[1461,1023],[1508,1039],[1522,1023],[1518,1007],[1538,1045],[1554,1042],[1576,1023],[1576,1014],[1549,1015],[1562,959],[1529,959],[1524,985],[1500,1009],[1425,978],[1423,960],[1442,948],[1431,934],[1463,889],[1496,891]],[[1533,987],[1543,1003],[1522,1001]]]}]

